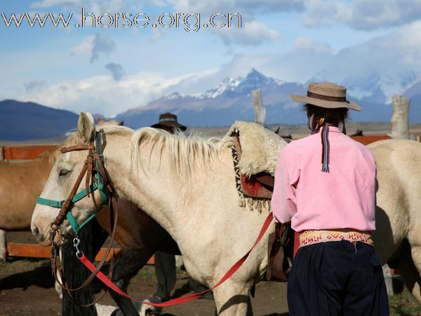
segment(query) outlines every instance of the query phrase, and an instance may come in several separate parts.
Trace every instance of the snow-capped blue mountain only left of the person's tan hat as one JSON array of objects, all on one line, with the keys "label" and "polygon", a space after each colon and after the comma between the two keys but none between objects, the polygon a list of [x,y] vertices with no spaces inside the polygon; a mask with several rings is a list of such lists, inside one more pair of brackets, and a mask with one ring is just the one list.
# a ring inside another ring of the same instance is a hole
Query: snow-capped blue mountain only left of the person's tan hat
[{"label": "snow-capped blue mountain only left of the person's tan hat", "polygon": [[[188,126],[222,126],[232,124],[235,120],[250,121],[254,119],[251,91],[255,89],[262,90],[263,102],[275,112],[296,106],[290,100],[289,93],[306,91],[302,84],[266,77],[252,69],[246,77],[225,78],[218,86],[203,93],[170,93],[144,107],[123,112],[116,119],[124,120],[132,127],[148,126],[157,121],[160,113],[173,112],[178,114],[182,124]],[[268,117],[270,114],[271,111]],[[276,120],[276,117],[272,117],[268,123]]]}]

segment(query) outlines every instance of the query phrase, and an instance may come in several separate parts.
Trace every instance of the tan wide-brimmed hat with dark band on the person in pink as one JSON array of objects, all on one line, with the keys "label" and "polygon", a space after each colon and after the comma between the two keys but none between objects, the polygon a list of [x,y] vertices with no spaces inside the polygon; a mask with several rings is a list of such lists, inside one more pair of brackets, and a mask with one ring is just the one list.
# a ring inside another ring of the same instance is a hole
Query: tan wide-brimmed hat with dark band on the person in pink
[{"label": "tan wide-brimmed hat with dark band on the person in pink", "polygon": [[347,107],[348,109],[361,111],[361,107],[347,100],[347,88],[332,82],[319,82],[309,84],[307,96],[296,96],[291,94],[291,98],[298,103],[309,103],[327,109],[337,109]]}]

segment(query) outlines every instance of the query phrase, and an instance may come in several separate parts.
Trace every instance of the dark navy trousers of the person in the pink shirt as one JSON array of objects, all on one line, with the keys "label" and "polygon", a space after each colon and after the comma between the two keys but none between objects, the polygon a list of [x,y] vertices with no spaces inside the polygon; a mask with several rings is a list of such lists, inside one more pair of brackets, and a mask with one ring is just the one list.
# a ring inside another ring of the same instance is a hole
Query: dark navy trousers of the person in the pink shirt
[{"label": "dark navy trousers of the person in the pink shirt", "polygon": [[372,246],[342,240],[298,249],[288,279],[290,316],[387,316],[380,259]]}]

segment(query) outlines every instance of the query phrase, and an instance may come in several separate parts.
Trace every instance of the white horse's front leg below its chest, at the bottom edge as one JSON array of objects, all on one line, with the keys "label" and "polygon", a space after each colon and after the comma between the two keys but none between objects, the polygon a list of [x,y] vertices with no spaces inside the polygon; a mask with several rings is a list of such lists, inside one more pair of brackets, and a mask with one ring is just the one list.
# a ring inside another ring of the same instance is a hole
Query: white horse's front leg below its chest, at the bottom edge
[{"label": "white horse's front leg below its chest, at the bottom edge", "polygon": [[250,301],[252,284],[239,284],[228,279],[220,287],[213,290],[218,315],[253,316]]}]

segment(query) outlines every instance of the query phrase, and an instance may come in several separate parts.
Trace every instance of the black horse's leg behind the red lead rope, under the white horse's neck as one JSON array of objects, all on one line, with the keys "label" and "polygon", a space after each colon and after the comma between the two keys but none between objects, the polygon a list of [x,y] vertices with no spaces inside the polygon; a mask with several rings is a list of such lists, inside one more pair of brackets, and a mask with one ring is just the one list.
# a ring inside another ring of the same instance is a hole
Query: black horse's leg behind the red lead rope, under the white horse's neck
[{"label": "black horse's leg behind the red lead rope, under the white horse's neck", "polygon": [[[138,271],[147,263],[149,251],[142,248],[123,248],[121,249],[120,256],[117,259],[112,275],[112,281],[117,287],[127,292],[128,283]],[[109,294],[114,301],[119,305],[123,315],[139,315],[138,309],[133,305],[132,301],[125,298],[114,291],[109,291]]]}]

